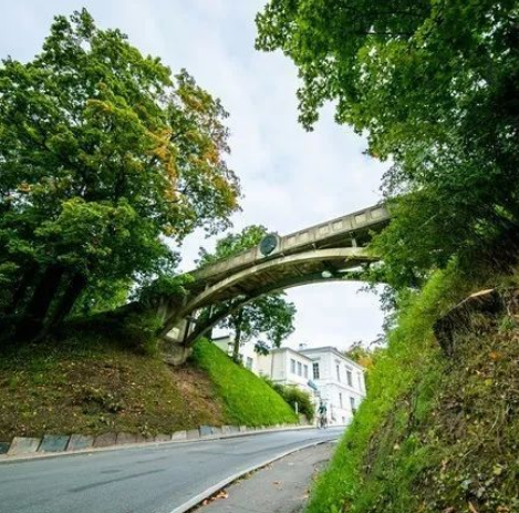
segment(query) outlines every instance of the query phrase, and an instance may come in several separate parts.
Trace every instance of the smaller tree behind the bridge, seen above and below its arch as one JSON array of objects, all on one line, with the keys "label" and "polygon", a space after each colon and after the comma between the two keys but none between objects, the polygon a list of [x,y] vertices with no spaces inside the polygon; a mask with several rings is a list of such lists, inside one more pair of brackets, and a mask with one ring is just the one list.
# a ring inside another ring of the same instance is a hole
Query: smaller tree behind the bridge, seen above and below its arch
[{"label": "smaller tree behind the bridge, seen above and below its arch", "polygon": [[[259,244],[267,235],[264,226],[251,225],[239,234],[229,234],[219,239],[212,253],[200,248],[201,266],[228,258]],[[294,330],[295,306],[284,299],[284,293],[272,293],[248,302],[239,310],[226,317],[219,326],[233,332],[232,358],[239,360],[240,346],[251,338],[264,335],[273,347]],[[258,342],[258,352],[264,352],[264,342]]]}]

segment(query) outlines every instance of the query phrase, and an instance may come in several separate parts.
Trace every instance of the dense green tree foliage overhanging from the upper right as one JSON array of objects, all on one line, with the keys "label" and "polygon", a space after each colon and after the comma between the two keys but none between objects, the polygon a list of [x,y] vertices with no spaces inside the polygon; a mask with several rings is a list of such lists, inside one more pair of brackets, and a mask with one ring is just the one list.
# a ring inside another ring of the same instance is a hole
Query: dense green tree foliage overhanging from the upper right
[{"label": "dense green tree foliage overhanging from the upper right", "polygon": [[393,161],[395,220],[377,240],[388,283],[517,254],[517,0],[271,0],[257,25],[257,47],[299,68],[305,127],[332,101],[369,154]]}]

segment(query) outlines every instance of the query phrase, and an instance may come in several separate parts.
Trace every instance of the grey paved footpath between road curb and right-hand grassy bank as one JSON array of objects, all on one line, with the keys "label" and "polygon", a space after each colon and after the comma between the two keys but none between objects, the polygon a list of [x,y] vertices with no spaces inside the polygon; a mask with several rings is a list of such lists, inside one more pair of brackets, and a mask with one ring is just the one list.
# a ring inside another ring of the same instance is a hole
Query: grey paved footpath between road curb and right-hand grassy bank
[{"label": "grey paved footpath between road curb and right-hand grassy bank", "polygon": [[226,489],[196,513],[300,513],[318,472],[324,470],[334,444],[323,443],[294,452]]}]

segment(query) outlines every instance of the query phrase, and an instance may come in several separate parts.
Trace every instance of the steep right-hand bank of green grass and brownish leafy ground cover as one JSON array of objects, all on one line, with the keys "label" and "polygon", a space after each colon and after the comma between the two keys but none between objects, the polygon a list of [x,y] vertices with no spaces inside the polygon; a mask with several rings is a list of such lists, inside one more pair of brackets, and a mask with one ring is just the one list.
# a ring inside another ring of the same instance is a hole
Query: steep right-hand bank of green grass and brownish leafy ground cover
[{"label": "steep right-hand bank of green grass and brownish leafy ground cover", "polygon": [[447,269],[409,298],[309,513],[519,511],[519,328],[474,314],[448,357],[433,334],[473,287]]}]

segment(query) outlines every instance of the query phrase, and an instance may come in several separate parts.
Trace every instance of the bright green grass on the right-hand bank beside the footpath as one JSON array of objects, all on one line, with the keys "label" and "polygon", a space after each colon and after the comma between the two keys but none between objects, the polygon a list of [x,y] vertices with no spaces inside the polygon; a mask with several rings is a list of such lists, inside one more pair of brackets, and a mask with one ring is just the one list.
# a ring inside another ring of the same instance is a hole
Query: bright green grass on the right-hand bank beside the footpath
[{"label": "bright green grass on the right-hand bank beside the footpath", "polygon": [[[451,415],[442,412],[450,411],[449,401],[467,380],[464,372],[476,372],[477,367],[464,352],[456,362],[447,360],[434,338],[433,324],[471,288],[453,267],[436,273],[419,294],[409,297],[388,336],[387,350],[370,376],[366,400],[312,490],[308,513],[470,511],[467,494],[459,489],[469,469],[467,461],[458,468],[458,488],[437,476],[445,473],[446,455],[455,450],[455,440],[442,433],[450,433],[453,417],[466,408],[468,398],[457,401]],[[511,369],[504,372],[508,376]],[[486,408],[482,402],[479,407],[482,414],[495,418],[496,401],[490,389],[486,392]],[[474,444],[480,434],[465,432]],[[474,468],[482,463],[477,450],[469,454],[478,462]],[[495,451],[489,461],[498,464],[500,458]],[[498,493],[491,488],[488,493]],[[512,499],[508,499],[509,503],[505,501],[501,506],[509,509],[496,510],[496,504],[485,509],[478,501],[477,511],[519,511],[510,509]]]}]

